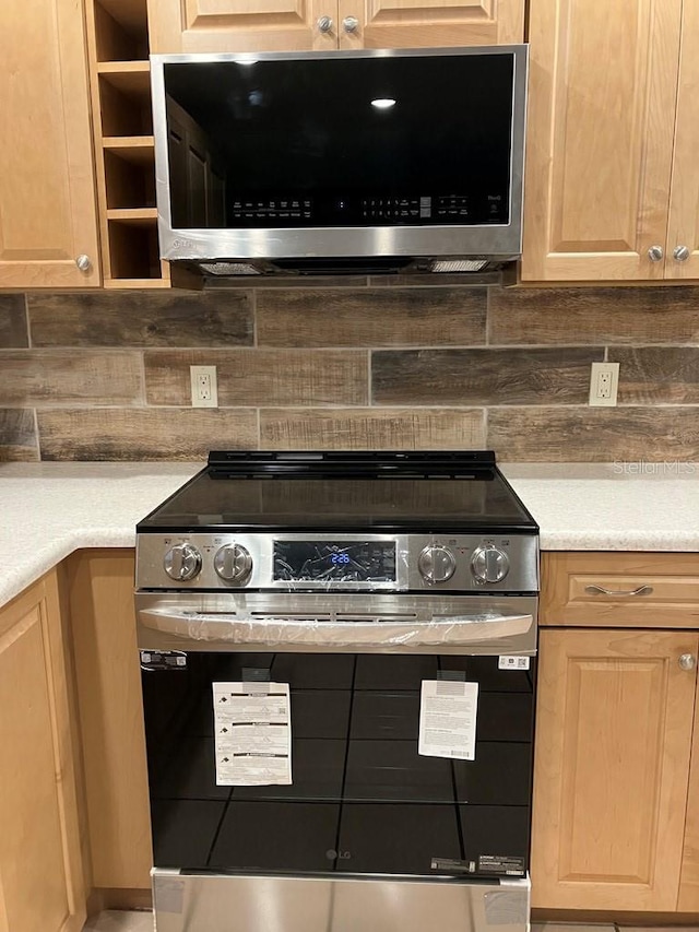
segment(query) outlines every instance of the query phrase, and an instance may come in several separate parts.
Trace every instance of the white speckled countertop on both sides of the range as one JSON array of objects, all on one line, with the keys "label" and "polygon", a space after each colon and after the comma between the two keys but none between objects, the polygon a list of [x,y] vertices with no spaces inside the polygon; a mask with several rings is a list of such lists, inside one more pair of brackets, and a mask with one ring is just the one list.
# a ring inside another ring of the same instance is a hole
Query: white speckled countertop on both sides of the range
[{"label": "white speckled countertop on both sides of the range", "polygon": [[[204,463],[1,463],[0,605],[80,547],[137,522]],[[698,463],[505,463],[542,550],[699,552]]]}]

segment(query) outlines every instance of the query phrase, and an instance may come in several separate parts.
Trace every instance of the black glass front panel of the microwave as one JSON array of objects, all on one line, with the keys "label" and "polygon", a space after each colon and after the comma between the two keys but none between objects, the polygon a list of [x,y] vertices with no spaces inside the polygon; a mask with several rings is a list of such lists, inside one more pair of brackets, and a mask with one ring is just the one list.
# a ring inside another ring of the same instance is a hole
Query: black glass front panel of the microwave
[{"label": "black glass front panel of the microwave", "polygon": [[509,223],[511,51],[164,75],[173,228]]}]

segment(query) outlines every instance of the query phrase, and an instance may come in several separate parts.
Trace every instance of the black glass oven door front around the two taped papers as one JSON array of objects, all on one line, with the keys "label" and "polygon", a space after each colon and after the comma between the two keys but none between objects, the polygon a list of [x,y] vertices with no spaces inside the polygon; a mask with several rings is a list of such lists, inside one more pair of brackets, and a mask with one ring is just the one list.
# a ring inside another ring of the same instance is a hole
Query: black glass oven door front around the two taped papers
[{"label": "black glass oven door front around the two taped papers", "polygon": [[[155,865],[520,875],[534,670],[497,657],[200,653],[143,673]],[[420,684],[478,684],[475,760],[417,753]],[[212,683],[288,683],[291,786],[217,786]]]}]

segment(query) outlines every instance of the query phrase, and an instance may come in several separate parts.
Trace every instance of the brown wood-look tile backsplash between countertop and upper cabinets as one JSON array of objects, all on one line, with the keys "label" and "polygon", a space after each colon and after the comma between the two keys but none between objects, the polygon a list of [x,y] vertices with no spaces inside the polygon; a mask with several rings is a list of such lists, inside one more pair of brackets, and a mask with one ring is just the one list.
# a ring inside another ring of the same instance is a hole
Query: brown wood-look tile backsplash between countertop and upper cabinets
[{"label": "brown wood-look tile backsplash between countertop and upper cabinets", "polygon": [[[619,404],[589,408],[604,359]],[[190,406],[190,365],[216,366],[218,409]],[[226,447],[697,460],[699,288],[420,276],[0,294],[0,460]]]}]

